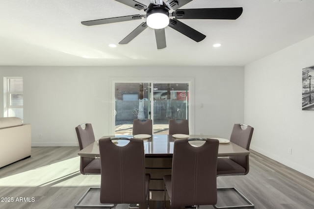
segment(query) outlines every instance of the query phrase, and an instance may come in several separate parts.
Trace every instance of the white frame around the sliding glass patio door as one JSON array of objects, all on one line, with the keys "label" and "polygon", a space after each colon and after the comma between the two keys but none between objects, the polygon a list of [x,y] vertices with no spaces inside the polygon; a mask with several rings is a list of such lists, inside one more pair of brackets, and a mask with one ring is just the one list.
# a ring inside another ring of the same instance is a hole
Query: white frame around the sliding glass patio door
[{"label": "white frame around the sliding glass patio door", "polygon": [[[194,116],[195,116],[195,104],[194,104],[194,78],[193,77],[110,77],[109,78],[109,109],[108,116],[109,118],[109,135],[114,135],[115,133],[115,83],[188,83],[189,84],[189,111],[188,111],[188,120],[190,134],[194,133]],[[153,102],[153,94],[151,93],[151,108]],[[153,112],[153,109],[151,109]],[[153,116],[154,117],[154,116]],[[152,118],[154,119],[154,118]]]}]

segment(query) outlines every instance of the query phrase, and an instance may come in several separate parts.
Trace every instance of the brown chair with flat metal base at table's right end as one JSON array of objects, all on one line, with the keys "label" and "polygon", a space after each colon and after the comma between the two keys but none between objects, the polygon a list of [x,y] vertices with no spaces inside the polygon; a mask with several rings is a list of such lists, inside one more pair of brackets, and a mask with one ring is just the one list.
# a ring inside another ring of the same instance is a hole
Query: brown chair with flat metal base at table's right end
[{"label": "brown chair with flat metal base at table's right end", "polygon": [[[230,141],[249,150],[254,128],[245,124],[234,124]],[[246,175],[249,172],[249,156],[231,156],[229,158],[218,158],[217,161],[217,176],[229,176],[229,175]],[[240,195],[246,205],[239,206],[224,206],[218,207],[218,209],[226,208],[254,208],[254,204],[249,201],[240,191],[235,187],[218,188],[218,191],[233,190]]]}]

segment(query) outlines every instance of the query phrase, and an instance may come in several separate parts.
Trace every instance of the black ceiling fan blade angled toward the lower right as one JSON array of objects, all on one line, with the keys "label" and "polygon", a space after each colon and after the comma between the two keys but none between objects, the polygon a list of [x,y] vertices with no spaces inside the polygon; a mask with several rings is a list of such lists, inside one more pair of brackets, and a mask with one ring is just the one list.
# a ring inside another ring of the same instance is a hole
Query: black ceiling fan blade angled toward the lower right
[{"label": "black ceiling fan blade angled toward the lower right", "polygon": [[200,42],[206,37],[206,35],[204,35],[203,33],[198,32],[197,30],[176,19],[170,19],[170,23],[168,26],[172,27],[173,29],[189,37],[190,39],[193,39],[196,42]]}]

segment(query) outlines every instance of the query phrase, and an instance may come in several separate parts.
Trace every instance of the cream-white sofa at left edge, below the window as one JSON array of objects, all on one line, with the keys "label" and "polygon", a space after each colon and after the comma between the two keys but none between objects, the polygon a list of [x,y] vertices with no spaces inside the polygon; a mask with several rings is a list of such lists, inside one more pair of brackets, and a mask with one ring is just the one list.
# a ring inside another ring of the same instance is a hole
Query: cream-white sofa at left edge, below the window
[{"label": "cream-white sofa at left edge, below the window", "polygon": [[19,117],[0,117],[0,168],[30,157],[31,126]]}]

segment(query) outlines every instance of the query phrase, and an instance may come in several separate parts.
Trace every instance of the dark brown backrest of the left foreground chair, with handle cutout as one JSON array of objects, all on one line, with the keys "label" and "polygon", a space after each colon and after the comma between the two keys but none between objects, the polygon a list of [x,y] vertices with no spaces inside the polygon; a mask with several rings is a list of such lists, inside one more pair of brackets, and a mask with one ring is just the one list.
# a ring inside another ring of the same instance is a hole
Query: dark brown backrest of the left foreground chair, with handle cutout
[{"label": "dark brown backrest of the left foreground chair, with handle cutout", "polygon": [[128,139],[125,146],[110,138],[99,140],[101,203],[145,203],[145,154],[142,139]]}]

